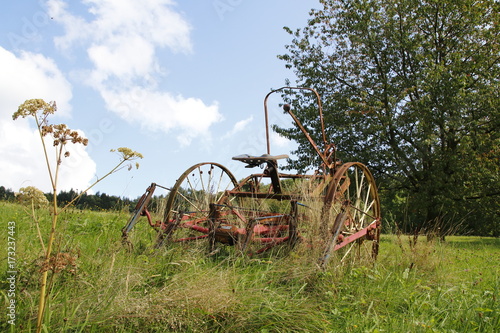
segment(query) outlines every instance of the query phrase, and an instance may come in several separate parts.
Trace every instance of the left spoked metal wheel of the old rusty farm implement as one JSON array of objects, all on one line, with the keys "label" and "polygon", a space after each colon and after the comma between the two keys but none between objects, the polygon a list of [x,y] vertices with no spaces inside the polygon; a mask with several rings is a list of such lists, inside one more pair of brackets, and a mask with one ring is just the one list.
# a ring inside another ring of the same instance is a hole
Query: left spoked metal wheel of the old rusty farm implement
[{"label": "left spoked metal wheel of the old rusty farm implement", "polygon": [[167,197],[156,246],[207,238],[210,205],[224,200],[237,185],[233,174],[217,163],[199,163],[187,169]]}]

